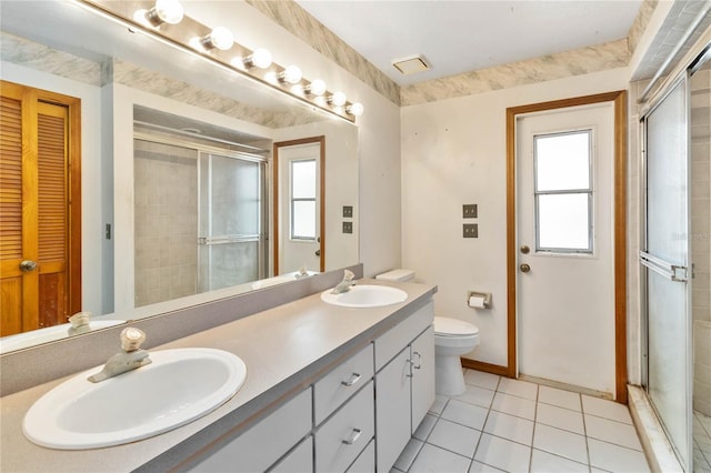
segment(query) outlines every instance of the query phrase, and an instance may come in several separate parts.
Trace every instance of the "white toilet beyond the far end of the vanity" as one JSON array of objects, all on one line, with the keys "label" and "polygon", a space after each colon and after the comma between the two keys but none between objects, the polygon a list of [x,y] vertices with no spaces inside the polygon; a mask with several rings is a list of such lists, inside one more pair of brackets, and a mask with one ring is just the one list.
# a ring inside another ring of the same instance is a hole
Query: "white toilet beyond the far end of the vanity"
[{"label": "white toilet beyond the far end of the vanity", "polygon": [[[377,275],[383,281],[411,281],[412,270],[392,270]],[[434,318],[434,390],[438,394],[459,395],[464,392],[464,372],[460,356],[479,346],[477,325],[459,319]]]}]

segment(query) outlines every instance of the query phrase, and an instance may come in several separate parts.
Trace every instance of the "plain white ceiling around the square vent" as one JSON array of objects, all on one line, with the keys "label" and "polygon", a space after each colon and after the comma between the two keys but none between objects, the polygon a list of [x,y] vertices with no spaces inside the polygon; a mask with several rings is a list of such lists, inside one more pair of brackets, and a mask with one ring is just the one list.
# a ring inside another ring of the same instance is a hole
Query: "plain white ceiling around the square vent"
[{"label": "plain white ceiling around the square vent", "polygon": [[[628,37],[642,0],[296,0],[400,85]],[[431,69],[403,76],[394,60]]]}]

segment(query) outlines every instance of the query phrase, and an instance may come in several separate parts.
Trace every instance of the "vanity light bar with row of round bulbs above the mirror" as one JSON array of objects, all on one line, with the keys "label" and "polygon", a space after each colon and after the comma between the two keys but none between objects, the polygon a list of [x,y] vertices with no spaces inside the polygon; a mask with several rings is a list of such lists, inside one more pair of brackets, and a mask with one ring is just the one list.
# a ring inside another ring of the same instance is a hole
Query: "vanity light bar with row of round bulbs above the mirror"
[{"label": "vanity light bar with row of round bulbs above the mirror", "polygon": [[[237,74],[262,83],[306,102],[317,109],[356,121],[363,105],[348,102],[341,91],[329,92],[321,79],[304,80],[297,66],[282,67],[271,53],[250,50],[234,42],[232,31],[224,27],[209,28],[187,17],[178,0],[74,0],[81,6],[109,17],[170,46],[211,61]],[[163,24],[170,26],[162,28]]]}]

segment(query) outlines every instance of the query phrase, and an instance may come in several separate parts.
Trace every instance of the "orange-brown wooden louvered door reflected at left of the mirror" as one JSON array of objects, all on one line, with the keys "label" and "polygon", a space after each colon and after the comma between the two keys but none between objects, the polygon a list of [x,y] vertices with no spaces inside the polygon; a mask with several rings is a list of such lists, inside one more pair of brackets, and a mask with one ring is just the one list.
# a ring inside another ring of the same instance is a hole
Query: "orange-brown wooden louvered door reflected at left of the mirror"
[{"label": "orange-brown wooden louvered door reflected at left of the mirror", "polygon": [[80,102],[0,82],[0,335],[81,310]]}]

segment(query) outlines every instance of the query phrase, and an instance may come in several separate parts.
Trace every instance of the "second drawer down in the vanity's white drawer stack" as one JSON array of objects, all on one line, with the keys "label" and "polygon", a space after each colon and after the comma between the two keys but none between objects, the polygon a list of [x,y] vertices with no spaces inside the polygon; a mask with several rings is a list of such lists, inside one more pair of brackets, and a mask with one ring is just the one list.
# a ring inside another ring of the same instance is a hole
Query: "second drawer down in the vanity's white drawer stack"
[{"label": "second drawer down in the vanity's white drawer stack", "polygon": [[317,431],[317,472],[344,472],[373,437],[373,395],[371,380]]}]

